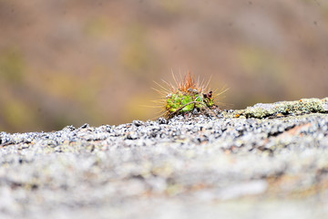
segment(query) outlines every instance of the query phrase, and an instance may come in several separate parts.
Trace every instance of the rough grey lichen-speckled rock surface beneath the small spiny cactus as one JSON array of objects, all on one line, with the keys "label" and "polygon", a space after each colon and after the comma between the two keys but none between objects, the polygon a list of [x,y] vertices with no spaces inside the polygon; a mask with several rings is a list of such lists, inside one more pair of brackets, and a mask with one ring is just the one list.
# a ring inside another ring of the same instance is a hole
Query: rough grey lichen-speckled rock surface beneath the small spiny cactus
[{"label": "rough grey lichen-speckled rock surface beneath the small spiny cactus", "polygon": [[325,218],[328,98],[0,132],[0,218]]}]

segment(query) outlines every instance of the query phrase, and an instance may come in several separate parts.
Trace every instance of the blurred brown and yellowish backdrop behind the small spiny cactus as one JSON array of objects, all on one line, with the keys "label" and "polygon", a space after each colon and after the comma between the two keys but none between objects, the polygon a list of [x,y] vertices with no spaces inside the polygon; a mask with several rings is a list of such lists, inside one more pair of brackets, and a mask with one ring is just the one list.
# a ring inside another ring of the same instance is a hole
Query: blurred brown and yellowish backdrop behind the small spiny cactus
[{"label": "blurred brown and yellowish backdrop behind the small spiny cactus", "polygon": [[229,109],[323,98],[327,68],[326,0],[0,0],[0,131],[154,119],[171,70]]}]

